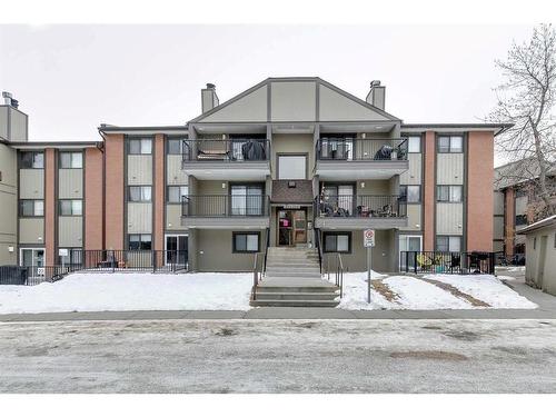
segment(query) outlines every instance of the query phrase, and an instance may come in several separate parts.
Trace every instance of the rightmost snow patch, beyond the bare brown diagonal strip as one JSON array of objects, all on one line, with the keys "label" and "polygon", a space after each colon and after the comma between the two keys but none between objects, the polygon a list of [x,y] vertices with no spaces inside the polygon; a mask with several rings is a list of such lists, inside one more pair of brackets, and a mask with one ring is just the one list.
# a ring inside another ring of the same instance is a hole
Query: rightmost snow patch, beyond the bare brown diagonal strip
[{"label": "rightmost snow patch, beyond the bare brown diagonal strip", "polygon": [[427,278],[449,284],[461,292],[489,304],[493,308],[538,307],[492,275],[430,275]]}]

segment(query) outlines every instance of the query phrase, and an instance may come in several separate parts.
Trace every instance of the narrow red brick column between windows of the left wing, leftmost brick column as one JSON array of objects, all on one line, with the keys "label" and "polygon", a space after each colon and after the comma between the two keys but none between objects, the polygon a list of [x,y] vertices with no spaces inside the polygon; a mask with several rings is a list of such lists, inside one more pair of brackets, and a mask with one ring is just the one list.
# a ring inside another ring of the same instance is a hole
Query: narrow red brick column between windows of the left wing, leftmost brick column
[{"label": "narrow red brick column between windows of the left wing, leftmost brick column", "polygon": [[57,265],[56,149],[44,149],[44,265]]}]

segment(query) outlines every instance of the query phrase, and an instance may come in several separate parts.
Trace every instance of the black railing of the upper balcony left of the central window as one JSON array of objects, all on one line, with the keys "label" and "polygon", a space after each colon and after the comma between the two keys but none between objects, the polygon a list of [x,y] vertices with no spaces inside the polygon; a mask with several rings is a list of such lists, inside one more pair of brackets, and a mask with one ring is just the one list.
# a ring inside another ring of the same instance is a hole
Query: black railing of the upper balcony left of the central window
[{"label": "black railing of the upper balcony left of the central window", "polygon": [[186,139],[183,162],[261,162],[270,159],[266,139]]}]

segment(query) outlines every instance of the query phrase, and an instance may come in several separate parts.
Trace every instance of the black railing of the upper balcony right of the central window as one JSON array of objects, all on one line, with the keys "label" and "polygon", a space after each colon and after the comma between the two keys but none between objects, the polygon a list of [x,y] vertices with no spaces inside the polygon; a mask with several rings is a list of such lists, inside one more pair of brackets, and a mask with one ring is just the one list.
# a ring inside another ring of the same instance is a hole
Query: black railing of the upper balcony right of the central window
[{"label": "black railing of the upper balcony right of the central window", "polygon": [[317,160],[393,161],[407,160],[407,139],[321,138],[316,145]]}]

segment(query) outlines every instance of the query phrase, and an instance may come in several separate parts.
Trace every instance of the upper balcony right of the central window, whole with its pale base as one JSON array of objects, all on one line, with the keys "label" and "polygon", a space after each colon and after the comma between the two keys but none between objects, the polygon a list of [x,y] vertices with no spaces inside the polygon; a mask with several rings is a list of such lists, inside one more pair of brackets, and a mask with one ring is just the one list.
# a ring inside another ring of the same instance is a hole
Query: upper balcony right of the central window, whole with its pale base
[{"label": "upper balcony right of the central window, whole with its pale base", "polygon": [[407,140],[320,138],[315,173],[320,179],[389,179],[409,169]]}]

